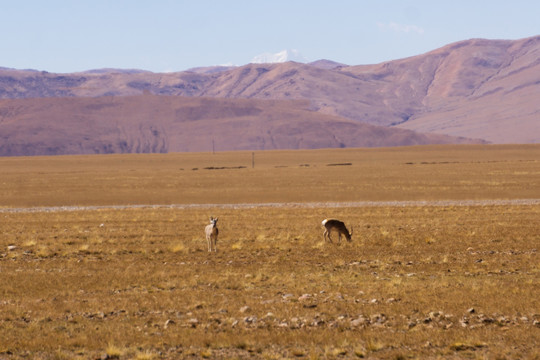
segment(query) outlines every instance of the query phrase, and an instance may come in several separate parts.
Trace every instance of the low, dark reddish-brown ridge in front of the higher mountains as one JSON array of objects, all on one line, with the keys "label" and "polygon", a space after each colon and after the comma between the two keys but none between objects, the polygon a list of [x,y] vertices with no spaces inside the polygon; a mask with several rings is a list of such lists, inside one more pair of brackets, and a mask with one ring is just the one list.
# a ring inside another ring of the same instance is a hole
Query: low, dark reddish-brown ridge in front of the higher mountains
[{"label": "low, dark reddish-brown ridge in front of the higher mountains", "polygon": [[126,96],[0,100],[0,155],[470,143],[359,123],[307,101]]}]

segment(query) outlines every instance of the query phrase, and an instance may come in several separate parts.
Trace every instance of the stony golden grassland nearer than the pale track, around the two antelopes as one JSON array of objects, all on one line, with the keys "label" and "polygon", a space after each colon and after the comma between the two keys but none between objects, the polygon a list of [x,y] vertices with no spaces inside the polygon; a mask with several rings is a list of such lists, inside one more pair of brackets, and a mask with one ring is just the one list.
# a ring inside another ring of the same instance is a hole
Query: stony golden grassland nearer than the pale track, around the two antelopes
[{"label": "stony golden grassland nearer than the pale track, around the two antelopes", "polygon": [[217,254],[206,213],[3,214],[1,353],[540,355],[538,205],[343,208],[340,246],[325,208],[220,209]]}]

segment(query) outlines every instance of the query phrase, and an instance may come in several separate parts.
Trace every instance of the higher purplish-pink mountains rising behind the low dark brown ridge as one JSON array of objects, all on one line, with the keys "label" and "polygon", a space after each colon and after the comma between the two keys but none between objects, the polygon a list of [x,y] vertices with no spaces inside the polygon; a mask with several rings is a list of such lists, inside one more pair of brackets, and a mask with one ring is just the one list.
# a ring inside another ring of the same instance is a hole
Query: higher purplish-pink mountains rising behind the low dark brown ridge
[{"label": "higher purplish-pink mountains rising behind the low dark brown ridge", "polygon": [[249,64],[220,71],[77,74],[0,69],[0,98],[140,95],[303,99],[354,121],[496,143],[537,143],[540,36],[467,40],[362,66]]}]

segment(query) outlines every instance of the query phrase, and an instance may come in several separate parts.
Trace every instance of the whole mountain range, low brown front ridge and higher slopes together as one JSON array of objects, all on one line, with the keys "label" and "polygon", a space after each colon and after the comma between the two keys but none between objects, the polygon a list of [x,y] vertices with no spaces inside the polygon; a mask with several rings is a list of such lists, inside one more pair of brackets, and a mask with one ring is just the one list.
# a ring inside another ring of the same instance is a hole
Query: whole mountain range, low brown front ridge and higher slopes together
[{"label": "whole mountain range, low brown front ridge and higher slopes together", "polygon": [[540,36],[375,65],[0,68],[0,155],[540,143]]}]

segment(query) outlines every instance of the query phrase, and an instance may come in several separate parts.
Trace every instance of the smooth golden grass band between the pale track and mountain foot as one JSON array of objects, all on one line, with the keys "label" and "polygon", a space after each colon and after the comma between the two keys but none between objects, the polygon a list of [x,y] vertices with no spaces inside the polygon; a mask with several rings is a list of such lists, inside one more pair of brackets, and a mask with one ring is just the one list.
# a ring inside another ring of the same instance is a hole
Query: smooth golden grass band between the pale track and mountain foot
[{"label": "smooth golden grass band between the pale track and mountain foot", "polygon": [[523,199],[540,188],[539,145],[254,154],[255,168],[252,152],[0,158],[0,207]]}]

